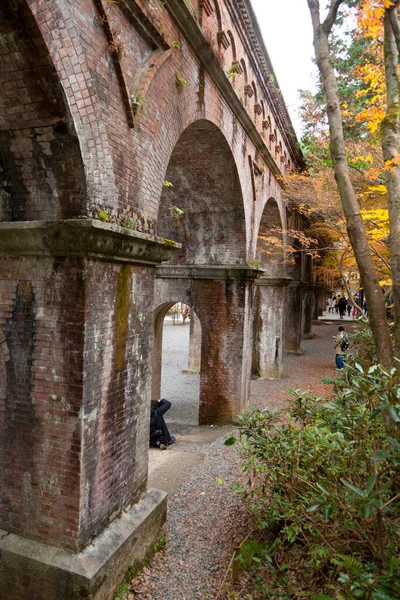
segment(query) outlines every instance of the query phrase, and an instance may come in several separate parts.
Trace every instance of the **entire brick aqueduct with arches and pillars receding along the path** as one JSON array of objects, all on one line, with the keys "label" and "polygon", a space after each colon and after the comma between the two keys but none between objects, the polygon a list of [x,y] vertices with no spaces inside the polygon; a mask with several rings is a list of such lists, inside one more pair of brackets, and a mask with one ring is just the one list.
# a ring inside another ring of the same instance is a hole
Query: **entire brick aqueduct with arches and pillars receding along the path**
[{"label": "entire brick aqueduct with arches and pillars receding along the path", "polygon": [[201,424],[311,333],[311,260],[263,251],[303,158],[249,0],[2,0],[0,52],[0,598],[105,600],[165,522],[167,310]]}]

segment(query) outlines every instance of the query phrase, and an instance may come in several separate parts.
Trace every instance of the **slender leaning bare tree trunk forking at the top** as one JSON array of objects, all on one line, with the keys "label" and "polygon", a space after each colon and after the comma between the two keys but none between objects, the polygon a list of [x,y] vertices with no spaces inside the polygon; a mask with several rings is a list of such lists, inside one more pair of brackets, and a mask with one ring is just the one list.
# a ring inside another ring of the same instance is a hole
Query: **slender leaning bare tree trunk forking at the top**
[{"label": "slender leaning bare tree trunk forking at the top", "polygon": [[334,67],[331,63],[328,38],[343,0],[331,0],[328,16],[321,24],[318,0],[307,0],[310,10],[314,49],[322,85],[327,101],[327,115],[330,133],[330,153],[336,183],[346,217],[346,227],[360,272],[361,285],[368,304],[368,318],[374,336],[379,362],[390,366],[393,360],[389,326],[386,319],[386,305],[379,286],[378,275],[372,260],[361,217],[360,207],[350,179],[350,170],[344,146],[342,115]]}]

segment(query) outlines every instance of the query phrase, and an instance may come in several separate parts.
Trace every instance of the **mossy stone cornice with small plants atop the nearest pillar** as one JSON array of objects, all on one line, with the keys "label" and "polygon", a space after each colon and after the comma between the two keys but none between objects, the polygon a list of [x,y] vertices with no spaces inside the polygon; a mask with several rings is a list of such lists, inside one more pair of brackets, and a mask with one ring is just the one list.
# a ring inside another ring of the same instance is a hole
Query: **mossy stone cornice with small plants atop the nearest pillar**
[{"label": "mossy stone cornice with small plants atop the nearest pillar", "polygon": [[81,256],[155,266],[180,247],[94,219],[0,223],[0,256]]}]

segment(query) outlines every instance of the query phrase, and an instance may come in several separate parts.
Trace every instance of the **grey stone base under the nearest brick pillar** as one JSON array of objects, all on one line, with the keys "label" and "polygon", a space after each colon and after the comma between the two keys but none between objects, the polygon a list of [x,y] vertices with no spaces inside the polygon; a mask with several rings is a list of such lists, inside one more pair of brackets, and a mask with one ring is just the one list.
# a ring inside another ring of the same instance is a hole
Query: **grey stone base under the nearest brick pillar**
[{"label": "grey stone base under the nearest brick pillar", "polygon": [[151,489],[77,554],[0,530],[0,598],[110,600],[132,561],[154,551],[166,512],[167,494]]}]

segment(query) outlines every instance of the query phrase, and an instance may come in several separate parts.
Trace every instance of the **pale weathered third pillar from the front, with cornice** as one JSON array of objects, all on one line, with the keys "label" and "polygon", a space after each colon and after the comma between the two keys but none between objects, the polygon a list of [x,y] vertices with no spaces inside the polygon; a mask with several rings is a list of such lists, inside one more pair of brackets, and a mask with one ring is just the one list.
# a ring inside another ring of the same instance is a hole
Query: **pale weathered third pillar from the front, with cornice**
[{"label": "pale weathered third pillar from the front, with cornice", "polygon": [[285,288],[289,280],[261,278],[256,282],[253,377],[279,379],[284,345]]}]

